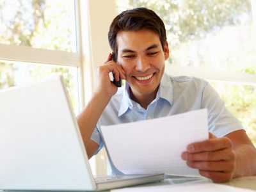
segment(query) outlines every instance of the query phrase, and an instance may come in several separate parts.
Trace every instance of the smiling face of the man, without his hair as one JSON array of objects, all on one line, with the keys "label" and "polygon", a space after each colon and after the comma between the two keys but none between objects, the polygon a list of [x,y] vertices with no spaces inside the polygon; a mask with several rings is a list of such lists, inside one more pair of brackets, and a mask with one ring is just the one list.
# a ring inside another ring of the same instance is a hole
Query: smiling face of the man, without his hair
[{"label": "smiling face of the man, without his hair", "polygon": [[154,96],[164,73],[164,62],[169,57],[168,43],[161,46],[154,31],[120,31],[116,36],[117,62],[125,71],[126,81],[134,97]]}]

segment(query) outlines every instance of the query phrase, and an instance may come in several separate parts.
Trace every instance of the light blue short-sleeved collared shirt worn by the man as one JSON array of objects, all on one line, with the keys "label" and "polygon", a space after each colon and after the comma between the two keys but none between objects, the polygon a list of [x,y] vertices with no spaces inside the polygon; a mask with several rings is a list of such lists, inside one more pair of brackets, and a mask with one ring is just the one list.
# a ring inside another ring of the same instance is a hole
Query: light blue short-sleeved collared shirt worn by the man
[{"label": "light blue short-sleeved collared shirt worn by the man", "polygon": [[[164,73],[156,99],[149,104],[147,110],[129,98],[128,83],[118,88],[118,92],[111,98],[100,116],[91,139],[99,144],[100,150],[104,147],[99,132],[100,125],[136,122],[202,108],[208,109],[208,129],[215,136],[220,138],[230,132],[243,129],[241,123],[225,108],[223,100],[207,81],[196,77],[171,77]],[[112,169],[110,174],[120,173],[113,166],[111,159],[109,163]]]}]

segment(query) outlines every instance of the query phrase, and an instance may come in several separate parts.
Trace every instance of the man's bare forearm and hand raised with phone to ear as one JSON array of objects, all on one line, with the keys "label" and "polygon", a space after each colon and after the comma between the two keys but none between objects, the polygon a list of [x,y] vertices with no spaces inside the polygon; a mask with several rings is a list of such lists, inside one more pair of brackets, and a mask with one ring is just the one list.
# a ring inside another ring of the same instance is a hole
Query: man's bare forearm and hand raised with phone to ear
[{"label": "man's bare forearm and hand raised with phone to ear", "polygon": [[95,141],[90,140],[92,132],[95,129],[102,111],[104,111],[108,105],[111,97],[117,92],[117,87],[110,81],[109,72],[113,72],[113,75],[117,81],[120,77],[125,79],[125,73],[121,65],[111,61],[111,59],[112,54],[109,54],[108,60],[104,63],[104,65],[97,68],[97,87],[95,93],[90,101],[86,104],[83,111],[81,111],[81,113],[77,116],[77,122],[88,157],[92,157],[99,148],[99,145],[95,143]]}]

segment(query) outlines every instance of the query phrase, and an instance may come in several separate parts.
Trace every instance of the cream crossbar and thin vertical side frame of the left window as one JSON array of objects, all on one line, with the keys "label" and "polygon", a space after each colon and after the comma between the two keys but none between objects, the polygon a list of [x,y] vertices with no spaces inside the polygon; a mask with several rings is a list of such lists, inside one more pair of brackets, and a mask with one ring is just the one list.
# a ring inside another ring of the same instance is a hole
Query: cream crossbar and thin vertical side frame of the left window
[{"label": "cream crossbar and thin vertical side frame of the left window", "polygon": [[[79,30],[79,17],[77,17],[77,4],[79,2],[74,0],[73,12],[76,24],[72,27],[76,30],[76,42],[77,42],[77,52],[67,52],[49,49],[38,49],[34,47],[28,47],[24,45],[7,45],[0,44],[0,60],[3,61],[17,61],[21,62],[20,65],[24,63],[35,64],[40,63],[42,65],[59,65],[68,67],[77,67],[78,71],[78,85],[79,85],[79,110],[84,106],[84,92],[81,87],[83,87],[83,78],[81,77],[81,68],[83,68],[83,63],[81,60],[81,51],[79,50],[80,42],[80,30]],[[76,27],[76,28],[75,28]],[[73,35],[74,35],[73,34]]]}]

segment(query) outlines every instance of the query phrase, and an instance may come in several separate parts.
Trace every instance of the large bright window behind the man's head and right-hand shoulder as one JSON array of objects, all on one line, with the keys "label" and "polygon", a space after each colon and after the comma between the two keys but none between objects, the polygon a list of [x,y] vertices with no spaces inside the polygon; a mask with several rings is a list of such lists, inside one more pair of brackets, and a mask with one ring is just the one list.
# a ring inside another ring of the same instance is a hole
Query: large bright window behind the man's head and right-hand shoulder
[{"label": "large bright window behind the man's head and right-hand shoulder", "polygon": [[166,24],[173,76],[207,79],[256,145],[256,1],[117,0],[118,13],[145,6]]}]

